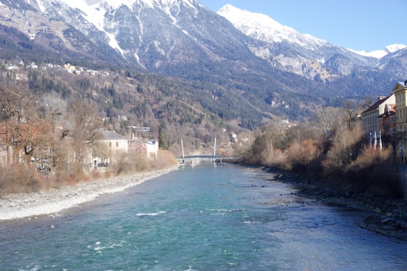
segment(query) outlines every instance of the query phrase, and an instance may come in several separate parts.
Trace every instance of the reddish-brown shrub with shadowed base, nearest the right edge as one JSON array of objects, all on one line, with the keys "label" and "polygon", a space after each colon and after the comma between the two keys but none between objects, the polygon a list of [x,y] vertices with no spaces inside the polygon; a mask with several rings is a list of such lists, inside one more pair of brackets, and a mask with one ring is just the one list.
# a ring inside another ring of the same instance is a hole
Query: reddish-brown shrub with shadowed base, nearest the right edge
[{"label": "reddish-brown shrub with shadowed base, nearest the right edge", "polygon": [[399,198],[402,196],[401,180],[393,170],[391,154],[390,148],[365,148],[354,162],[345,167],[345,176],[357,189]]}]

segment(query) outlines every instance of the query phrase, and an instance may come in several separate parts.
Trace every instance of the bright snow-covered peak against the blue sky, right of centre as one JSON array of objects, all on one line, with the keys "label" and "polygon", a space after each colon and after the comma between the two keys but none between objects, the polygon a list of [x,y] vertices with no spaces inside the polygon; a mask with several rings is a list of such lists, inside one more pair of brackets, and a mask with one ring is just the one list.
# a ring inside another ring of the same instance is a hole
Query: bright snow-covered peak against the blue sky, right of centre
[{"label": "bright snow-covered peak against the blue sky, right of centre", "polygon": [[241,10],[229,4],[218,10],[217,14],[228,19],[246,35],[265,42],[288,41],[310,50],[328,45],[328,42],[323,39],[310,34],[301,34],[291,27],[281,25],[267,15]]}]

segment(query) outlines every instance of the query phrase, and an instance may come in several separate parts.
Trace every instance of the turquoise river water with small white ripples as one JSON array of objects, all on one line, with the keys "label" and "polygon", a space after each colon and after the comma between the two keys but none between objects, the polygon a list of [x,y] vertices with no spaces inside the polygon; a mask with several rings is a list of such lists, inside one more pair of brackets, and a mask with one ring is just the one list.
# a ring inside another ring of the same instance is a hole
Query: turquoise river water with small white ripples
[{"label": "turquoise river water with small white ripples", "polygon": [[57,215],[0,222],[0,270],[406,270],[365,213],[236,165],[184,167]]}]

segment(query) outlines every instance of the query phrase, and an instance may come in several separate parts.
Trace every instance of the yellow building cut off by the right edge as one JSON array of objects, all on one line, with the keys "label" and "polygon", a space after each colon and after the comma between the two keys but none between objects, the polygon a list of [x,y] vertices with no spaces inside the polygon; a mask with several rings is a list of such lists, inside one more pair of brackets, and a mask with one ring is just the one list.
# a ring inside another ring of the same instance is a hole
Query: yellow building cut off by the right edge
[{"label": "yellow building cut off by the right edge", "polygon": [[[407,133],[407,81],[398,82],[393,88],[396,96],[396,131]],[[397,146],[397,162],[407,163],[407,142],[399,142]]]}]

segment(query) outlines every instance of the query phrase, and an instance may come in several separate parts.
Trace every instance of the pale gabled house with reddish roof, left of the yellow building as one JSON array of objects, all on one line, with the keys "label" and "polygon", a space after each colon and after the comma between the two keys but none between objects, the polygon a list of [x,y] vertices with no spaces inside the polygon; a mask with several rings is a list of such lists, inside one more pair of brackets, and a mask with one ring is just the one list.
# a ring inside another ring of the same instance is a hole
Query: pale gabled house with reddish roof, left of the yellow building
[{"label": "pale gabled house with reddish roof, left of the yellow building", "polygon": [[388,97],[380,96],[372,106],[362,112],[362,126],[366,137],[370,134],[379,133],[379,116],[384,114],[386,104],[395,104],[395,95],[391,94]]}]

